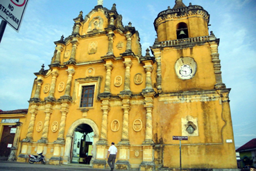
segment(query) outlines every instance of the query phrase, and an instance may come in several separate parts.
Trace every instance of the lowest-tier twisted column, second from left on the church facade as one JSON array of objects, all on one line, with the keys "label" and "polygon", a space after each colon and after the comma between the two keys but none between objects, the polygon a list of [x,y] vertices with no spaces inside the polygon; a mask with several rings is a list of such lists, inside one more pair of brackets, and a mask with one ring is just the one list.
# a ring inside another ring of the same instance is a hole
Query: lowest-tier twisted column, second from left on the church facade
[{"label": "lowest-tier twisted column, second from left on the church facade", "polygon": [[49,122],[50,122],[51,114],[53,113],[51,104],[45,105],[44,113],[45,113],[44,127],[42,129],[41,139],[37,141],[38,143],[48,143]]}]

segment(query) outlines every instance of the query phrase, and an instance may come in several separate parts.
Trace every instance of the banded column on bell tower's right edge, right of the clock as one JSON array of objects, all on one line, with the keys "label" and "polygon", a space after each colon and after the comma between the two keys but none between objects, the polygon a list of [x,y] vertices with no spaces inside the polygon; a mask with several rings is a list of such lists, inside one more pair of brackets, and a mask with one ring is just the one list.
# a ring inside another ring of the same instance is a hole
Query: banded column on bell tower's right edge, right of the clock
[{"label": "banded column on bell tower's right edge, right of the clock", "polygon": [[[210,40],[216,40],[216,37],[212,31]],[[218,44],[216,42],[210,42],[210,48],[212,51],[212,62],[214,64],[214,73],[216,79],[215,89],[225,89],[225,84],[222,82],[221,60],[219,60]]]}]

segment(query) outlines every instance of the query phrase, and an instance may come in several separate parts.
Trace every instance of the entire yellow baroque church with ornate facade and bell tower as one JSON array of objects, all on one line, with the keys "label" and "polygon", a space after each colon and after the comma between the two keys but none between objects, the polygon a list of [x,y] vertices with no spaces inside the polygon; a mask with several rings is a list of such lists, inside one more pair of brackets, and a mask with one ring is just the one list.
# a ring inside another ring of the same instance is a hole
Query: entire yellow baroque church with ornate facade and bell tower
[{"label": "entire yellow baroque church with ornate facade and bell tower", "polygon": [[117,170],[175,170],[181,144],[183,170],[237,170],[230,89],[209,21],[202,6],[176,0],[153,21],[157,38],[144,56],[116,4],[80,12],[71,35],[54,42],[49,69],[34,73],[12,155],[28,162],[43,152],[51,165],[100,170],[114,142]]}]

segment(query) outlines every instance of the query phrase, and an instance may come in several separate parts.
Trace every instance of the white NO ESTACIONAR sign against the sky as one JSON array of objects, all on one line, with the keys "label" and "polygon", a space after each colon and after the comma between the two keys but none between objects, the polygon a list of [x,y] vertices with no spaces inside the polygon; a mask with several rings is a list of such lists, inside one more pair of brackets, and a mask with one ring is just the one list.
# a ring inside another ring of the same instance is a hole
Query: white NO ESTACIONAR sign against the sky
[{"label": "white NO ESTACIONAR sign against the sky", "polygon": [[0,0],[0,17],[19,32],[28,0]]}]

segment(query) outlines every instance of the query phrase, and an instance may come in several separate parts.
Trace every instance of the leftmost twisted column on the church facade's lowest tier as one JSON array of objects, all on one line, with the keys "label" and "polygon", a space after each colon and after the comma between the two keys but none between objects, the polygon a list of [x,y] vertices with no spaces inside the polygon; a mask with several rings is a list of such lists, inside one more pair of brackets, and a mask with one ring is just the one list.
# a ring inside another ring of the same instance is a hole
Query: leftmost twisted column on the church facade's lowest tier
[{"label": "leftmost twisted column on the church facade's lowest tier", "polygon": [[33,140],[35,116],[38,112],[38,106],[37,105],[32,105],[29,112],[31,113],[31,120],[29,122],[28,133],[26,134],[26,138],[24,139],[24,141],[32,141]]}]

